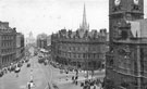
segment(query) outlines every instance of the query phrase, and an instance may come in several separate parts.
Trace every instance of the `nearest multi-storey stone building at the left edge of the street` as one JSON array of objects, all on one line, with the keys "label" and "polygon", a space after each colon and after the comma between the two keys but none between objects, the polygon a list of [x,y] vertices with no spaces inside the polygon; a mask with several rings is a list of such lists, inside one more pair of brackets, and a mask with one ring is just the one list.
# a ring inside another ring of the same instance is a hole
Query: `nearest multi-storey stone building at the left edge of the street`
[{"label": "nearest multi-storey stone building at the left edge of the street", "polygon": [[16,30],[8,22],[0,22],[0,68],[15,62]]}]

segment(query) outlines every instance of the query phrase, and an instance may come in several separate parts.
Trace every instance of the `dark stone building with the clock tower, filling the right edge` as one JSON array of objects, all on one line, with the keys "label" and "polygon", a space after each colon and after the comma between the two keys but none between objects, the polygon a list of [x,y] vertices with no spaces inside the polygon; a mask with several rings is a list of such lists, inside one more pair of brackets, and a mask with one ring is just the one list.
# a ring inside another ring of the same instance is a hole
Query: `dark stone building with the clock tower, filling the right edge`
[{"label": "dark stone building with the clock tower, filling the right edge", "polygon": [[109,0],[109,22],[105,89],[147,89],[144,0]]}]

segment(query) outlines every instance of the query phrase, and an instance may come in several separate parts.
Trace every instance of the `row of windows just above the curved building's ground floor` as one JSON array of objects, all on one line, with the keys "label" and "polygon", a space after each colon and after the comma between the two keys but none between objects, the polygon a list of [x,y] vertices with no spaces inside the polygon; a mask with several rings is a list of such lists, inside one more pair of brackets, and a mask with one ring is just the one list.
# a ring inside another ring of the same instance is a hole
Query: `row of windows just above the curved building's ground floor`
[{"label": "row of windows just above the curved building's ground floor", "polygon": [[73,59],[105,59],[105,54],[102,54],[102,53],[65,53],[65,52],[60,52],[59,54],[62,56],[65,56],[65,58],[73,58]]}]

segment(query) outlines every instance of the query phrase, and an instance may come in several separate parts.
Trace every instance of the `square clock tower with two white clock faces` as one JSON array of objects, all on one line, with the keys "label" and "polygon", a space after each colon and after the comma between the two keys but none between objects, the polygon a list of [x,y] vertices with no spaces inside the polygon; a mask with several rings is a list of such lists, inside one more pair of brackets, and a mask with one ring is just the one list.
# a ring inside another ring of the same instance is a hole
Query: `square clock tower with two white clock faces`
[{"label": "square clock tower with two white clock faces", "polygon": [[109,0],[110,42],[120,38],[119,26],[125,21],[144,18],[144,0]]}]

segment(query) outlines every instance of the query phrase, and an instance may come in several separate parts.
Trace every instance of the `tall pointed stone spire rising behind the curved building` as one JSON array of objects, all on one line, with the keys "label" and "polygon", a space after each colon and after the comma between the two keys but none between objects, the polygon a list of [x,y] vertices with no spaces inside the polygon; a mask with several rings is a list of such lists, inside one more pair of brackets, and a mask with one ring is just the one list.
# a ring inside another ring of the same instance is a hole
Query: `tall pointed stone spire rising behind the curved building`
[{"label": "tall pointed stone spire rising behind the curved building", "polygon": [[83,22],[82,22],[81,29],[83,29],[83,30],[88,30],[88,29],[89,29],[89,26],[87,25],[87,22],[86,22],[86,9],[85,9],[85,3],[84,3]]}]

